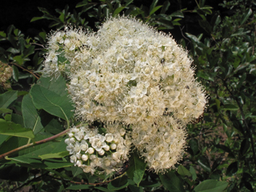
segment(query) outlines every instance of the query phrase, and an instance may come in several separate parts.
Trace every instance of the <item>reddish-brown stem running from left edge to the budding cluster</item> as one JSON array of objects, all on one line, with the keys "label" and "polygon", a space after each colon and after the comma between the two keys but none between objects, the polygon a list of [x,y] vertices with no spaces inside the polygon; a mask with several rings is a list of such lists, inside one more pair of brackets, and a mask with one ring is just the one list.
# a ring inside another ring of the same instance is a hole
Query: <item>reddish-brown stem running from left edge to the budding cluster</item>
[{"label": "reddish-brown stem running from left edge to the budding cluster", "polygon": [[45,143],[45,142],[50,142],[50,141],[54,140],[55,138],[59,138],[59,137],[63,136],[64,134],[66,134],[69,131],[70,131],[70,129],[67,129],[67,130],[62,131],[59,134],[55,134],[54,136],[52,136],[50,138],[45,138],[45,139],[42,139],[41,141],[29,143],[29,144],[26,144],[25,146],[20,146],[20,147],[14,149],[14,150],[10,150],[10,151],[6,152],[5,154],[1,154],[0,155],[0,160],[2,158],[8,158],[7,157],[8,155],[13,154],[15,152],[18,152],[19,150],[24,150],[24,149],[26,149],[26,148],[28,148],[30,146],[37,146],[37,145]]}]

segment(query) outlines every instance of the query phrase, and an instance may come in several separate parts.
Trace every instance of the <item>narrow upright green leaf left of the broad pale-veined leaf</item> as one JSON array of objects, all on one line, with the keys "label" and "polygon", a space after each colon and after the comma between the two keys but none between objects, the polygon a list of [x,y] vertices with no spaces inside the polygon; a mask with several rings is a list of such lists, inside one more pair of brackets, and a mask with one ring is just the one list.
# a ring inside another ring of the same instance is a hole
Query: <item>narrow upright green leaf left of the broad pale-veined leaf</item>
[{"label": "narrow upright green leaf left of the broad pale-veined leaf", "polygon": [[30,94],[26,94],[22,99],[22,114],[24,126],[33,130],[34,134],[38,134],[43,126]]}]

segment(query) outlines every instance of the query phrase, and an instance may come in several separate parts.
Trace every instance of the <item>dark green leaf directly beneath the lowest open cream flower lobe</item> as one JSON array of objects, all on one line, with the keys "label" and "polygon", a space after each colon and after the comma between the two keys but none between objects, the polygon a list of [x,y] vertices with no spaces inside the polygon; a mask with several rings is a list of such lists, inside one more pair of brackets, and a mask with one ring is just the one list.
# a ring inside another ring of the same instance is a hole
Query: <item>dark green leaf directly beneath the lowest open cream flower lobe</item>
[{"label": "dark green leaf directly beneath the lowest open cream flower lobe", "polygon": [[159,178],[162,185],[166,187],[167,190],[171,192],[185,192],[182,181],[174,174],[174,172],[169,172],[166,174],[159,174]]}]

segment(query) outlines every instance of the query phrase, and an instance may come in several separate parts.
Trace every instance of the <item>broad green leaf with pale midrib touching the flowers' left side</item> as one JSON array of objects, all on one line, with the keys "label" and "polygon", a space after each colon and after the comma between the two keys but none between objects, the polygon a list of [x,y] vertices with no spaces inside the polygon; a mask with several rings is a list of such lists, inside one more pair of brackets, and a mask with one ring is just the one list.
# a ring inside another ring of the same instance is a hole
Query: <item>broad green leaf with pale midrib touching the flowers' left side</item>
[{"label": "broad green leaf with pale midrib touching the flowers' left side", "polygon": [[74,114],[72,111],[74,110],[74,106],[67,96],[61,96],[39,85],[32,87],[30,95],[34,106],[38,110],[46,110],[49,114],[53,114],[66,121]]}]

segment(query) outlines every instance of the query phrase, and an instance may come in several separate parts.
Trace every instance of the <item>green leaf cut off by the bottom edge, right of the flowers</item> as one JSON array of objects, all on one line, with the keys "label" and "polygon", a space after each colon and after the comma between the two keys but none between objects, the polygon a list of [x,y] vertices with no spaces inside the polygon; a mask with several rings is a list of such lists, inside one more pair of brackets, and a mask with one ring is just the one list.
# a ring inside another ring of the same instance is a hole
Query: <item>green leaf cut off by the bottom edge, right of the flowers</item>
[{"label": "green leaf cut off by the bottom edge, right of the flowers", "polygon": [[222,192],[228,186],[228,182],[218,182],[214,179],[209,179],[201,182],[194,188],[195,192]]}]

